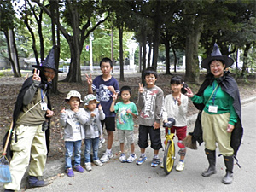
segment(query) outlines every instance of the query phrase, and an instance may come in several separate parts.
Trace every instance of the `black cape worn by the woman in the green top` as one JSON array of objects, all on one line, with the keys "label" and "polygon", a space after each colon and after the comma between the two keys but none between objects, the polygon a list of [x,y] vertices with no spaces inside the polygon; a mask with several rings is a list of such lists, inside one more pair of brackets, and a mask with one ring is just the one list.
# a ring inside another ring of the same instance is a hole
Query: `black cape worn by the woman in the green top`
[{"label": "black cape worn by the woman in the green top", "polygon": [[[212,84],[213,80],[214,79],[212,73],[207,74],[207,78],[201,84],[201,87],[196,95],[202,96],[204,90],[207,88],[208,85]],[[224,76],[218,79],[218,84],[224,92],[229,94],[234,99],[233,107],[235,108],[238,118],[235,124],[235,128],[231,134],[230,146],[234,149],[234,155],[236,156],[237,151],[241,145],[241,137],[243,134],[243,128],[241,125],[241,102],[239,90],[236,84],[236,80],[231,77],[230,72],[224,72]],[[200,110],[200,112],[198,113],[197,119],[195,121],[194,131],[190,132],[189,135],[192,136],[192,142],[197,141],[201,145],[201,143],[203,142],[201,129],[201,111],[205,108],[205,105],[203,103],[194,103],[194,105],[198,110]]]}]

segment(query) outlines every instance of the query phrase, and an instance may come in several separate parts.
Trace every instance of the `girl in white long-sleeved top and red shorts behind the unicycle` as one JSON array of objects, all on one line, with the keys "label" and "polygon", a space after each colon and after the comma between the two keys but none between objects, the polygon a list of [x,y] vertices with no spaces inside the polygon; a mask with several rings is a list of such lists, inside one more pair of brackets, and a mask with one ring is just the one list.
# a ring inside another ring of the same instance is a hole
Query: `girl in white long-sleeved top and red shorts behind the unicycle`
[{"label": "girl in white long-sleeved top and red shorts behind the unicycle", "polygon": [[[167,122],[167,118],[172,117],[175,119],[175,125],[172,126],[171,132],[176,131],[178,138],[177,146],[180,148],[178,154],[180,160],[176,166],[176,170],[181,172],[184,169],[184,158],[186,154],[186,148],[182,141],[187,135],[187,119],[186,113],[188,110],[188,96],[183,95],[183,79],[180,76],[174,76],[171,79],[172,94],[169,94],[165,98],[163,119]],[[166,134],[167,134],[166,128]]]}]

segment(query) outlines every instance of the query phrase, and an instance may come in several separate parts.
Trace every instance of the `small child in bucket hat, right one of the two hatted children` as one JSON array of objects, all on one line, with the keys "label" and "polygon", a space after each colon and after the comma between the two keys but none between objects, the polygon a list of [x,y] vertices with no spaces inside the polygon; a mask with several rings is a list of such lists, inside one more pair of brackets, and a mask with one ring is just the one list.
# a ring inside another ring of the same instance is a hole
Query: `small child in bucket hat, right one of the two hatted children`
[{"label": "small child in bucket hat, right one of the two hatted children", "polygon": [[85,169],[91,171],[90,165],[90,148],[93,149],[93,162],[96,166],[103,166],[101,160],[98,158],[99,140],[102,135],[102,123],[101,120],[105,119],[102,106],[97,104],[100,103],[96,100],[96,96],[89,94],[84,97],[84,108],[86,113],[85,128],[85,150],[84,150],[84,161]]}]

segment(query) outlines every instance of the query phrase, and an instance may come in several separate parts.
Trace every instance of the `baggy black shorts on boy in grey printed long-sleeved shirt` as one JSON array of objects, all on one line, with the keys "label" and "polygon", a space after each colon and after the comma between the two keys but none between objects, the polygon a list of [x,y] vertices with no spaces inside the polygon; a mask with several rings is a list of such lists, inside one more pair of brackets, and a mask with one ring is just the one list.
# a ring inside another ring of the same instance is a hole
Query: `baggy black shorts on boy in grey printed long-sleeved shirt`
[{"label": "baggy black shorts on boy in grey printed long-sleeved shirt", "polygon": [[139,125],[138,146],[140,148],[148,148],[148,135],[151,141],[151,148],[159,150],[162,148],[160,129],[155,129],[153,126]]}]

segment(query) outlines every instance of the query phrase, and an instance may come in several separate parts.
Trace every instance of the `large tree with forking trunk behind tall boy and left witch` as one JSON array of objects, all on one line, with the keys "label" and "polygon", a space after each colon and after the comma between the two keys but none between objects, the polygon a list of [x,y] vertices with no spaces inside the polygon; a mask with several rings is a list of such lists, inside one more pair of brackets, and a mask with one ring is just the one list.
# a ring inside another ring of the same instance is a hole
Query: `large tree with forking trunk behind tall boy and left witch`
[{"label": "large tree with forking trunk behind tall boy and left witch", "polygon": [[[51,11],[43,3],[39,0],[32,0],[32,2],[37,3],[51,17]],[[90,32],[108,19],[109,12],[108,9],[102,7],[102,2],[70,0],[57,2],[61,5],[63,20],[72,29],[72,34],[70,34],[64,25],[59,24],[59,29],[69,45],[71,56],[69,72],[64,81],[81,83],[80,55],[84,48],[84,40],[89,37]],[[56,18],[55,24],[58,25]]]}]

